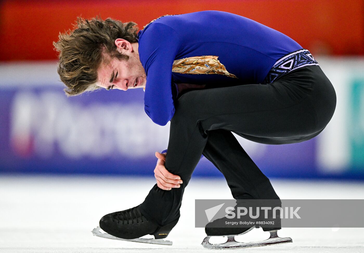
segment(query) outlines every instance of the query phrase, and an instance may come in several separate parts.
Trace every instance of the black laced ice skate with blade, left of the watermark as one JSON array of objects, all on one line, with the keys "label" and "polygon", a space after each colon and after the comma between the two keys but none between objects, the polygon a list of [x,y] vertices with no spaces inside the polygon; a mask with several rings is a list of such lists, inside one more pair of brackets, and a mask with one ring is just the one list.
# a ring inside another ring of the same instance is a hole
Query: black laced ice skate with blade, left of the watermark
[{"label": "black laced ice skate with blade, left of the watermark", "polygon": [[[171,241],[165,241],[163,238],[168,236],[176,224],[177,221],[163,227],[158,226],[158,224],[145,218],[140,212],[139,206],[136,206],[124,211],[106,214],[100,219],[100,227],[92,230],[92,234],[114,240],[172,245]],[[102,233],[100,228],[106,233]],[[153,235],[154,239],[139,238],[148,234]]]}]

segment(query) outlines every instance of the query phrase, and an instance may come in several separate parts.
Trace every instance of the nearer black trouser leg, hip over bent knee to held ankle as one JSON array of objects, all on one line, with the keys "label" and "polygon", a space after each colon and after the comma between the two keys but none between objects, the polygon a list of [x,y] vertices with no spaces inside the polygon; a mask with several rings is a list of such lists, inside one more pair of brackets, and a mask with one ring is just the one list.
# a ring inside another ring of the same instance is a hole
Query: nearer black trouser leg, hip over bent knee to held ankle
[{"label": "nearer black trouser leg, hip over bent knee to held ankle", "polygon": [[335,91],[324,77],[318,66],[309,66],[268,85],[183,94],[175,103],[165,163],[167,170],[181,176],[183,184],[170,191],[155,184],[141,204],[142,213],[159,225],[179,218],[183,191],[202,155],[209,131],[225,129],[253,136],[260,143],[278,140],[274,144],[316,136],[330,121],[336,105]]}]

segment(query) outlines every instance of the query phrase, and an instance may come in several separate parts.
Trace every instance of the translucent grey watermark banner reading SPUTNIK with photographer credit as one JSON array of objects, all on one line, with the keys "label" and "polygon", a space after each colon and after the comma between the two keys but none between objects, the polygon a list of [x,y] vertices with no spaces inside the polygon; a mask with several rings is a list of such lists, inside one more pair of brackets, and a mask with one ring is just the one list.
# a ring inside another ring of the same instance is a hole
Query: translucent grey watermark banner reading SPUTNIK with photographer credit
[{"label": "translucent grey watermark banner reading SPUTNIK with photographer credit", "polygon": [[363,199],[195,199],[195,227],[364,227]]}]

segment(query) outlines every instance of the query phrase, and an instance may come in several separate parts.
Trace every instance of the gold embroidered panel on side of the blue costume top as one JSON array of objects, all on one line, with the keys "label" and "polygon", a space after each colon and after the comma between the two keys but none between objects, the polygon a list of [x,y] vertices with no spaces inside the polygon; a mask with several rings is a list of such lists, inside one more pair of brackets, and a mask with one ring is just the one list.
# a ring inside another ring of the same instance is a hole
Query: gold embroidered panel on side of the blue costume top
[{"label": "gold embroidered panel on side of the blue costume top", "polygon": [[173,62],[172,72],[180,74],[218,74],[237,78],[230,74],[217,59],[218,56],[202,55],[179,59]]}]

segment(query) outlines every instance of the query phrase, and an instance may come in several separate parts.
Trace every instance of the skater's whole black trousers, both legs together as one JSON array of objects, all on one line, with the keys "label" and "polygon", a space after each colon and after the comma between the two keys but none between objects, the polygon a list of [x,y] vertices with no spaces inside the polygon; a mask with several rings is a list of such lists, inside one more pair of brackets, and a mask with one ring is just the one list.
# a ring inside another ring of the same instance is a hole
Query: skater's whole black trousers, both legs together
[{"label": "skater's whole black trousers, both legs together", "polygon": [[175,104],[165,167],[180,188],[150,190],[140,209],[160,226],[179,219],[182,195],[201,154],[225,176],[235,199],[279,199],[269,179],[232,132],[264,144],[312,139],[336,107],[335,90],[317,65],[282,75],[269,84],[192,90]]}]

